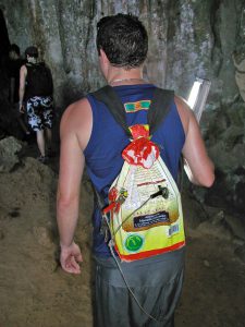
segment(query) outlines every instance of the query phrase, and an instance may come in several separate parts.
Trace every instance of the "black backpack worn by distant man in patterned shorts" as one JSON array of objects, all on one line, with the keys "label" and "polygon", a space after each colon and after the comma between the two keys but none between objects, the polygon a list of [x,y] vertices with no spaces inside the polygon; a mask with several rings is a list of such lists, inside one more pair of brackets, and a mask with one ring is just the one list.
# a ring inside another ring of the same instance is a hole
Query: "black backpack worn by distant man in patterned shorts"
[{"label": "black backpack worn by distant man in patterned shorts", "polygon": [[51,96],[53,92],[50,69],[44,63],[26,64],[27,97]]}]

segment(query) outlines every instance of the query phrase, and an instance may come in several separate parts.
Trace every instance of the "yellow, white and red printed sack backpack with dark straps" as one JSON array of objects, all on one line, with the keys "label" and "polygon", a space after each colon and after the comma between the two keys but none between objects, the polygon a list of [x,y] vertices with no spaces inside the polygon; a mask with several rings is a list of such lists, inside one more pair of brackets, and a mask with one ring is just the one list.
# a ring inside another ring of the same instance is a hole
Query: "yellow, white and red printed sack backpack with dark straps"
[{"label": "yellow, white and red printed sack backpack with dark straps", "polygon": [[181,195],[150,135],[162,123],[173,92],[156,88],[147,113],[148,125],[127,128],[125,109],[111,86],[93,94],[106,104],[131,138],[122,152],[119,175],[109,189],[109,204],[97,199],[109,227],[109,246],[131,262],[177,250],[185,244]]}]

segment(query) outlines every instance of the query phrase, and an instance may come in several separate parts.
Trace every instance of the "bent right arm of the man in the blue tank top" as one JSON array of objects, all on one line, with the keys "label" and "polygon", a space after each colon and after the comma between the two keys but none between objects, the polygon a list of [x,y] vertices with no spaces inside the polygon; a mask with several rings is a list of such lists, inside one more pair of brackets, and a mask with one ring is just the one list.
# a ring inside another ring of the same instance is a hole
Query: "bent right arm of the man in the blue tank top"
[{"label": "bent right arm of the man in the blue tank top", "polygon": [[187,104],[175,97],[175,104],[185,130],[183,156],[185,171],[191,182],[210,187],[215,181],[215,167],[208,157],[199,125]]}]

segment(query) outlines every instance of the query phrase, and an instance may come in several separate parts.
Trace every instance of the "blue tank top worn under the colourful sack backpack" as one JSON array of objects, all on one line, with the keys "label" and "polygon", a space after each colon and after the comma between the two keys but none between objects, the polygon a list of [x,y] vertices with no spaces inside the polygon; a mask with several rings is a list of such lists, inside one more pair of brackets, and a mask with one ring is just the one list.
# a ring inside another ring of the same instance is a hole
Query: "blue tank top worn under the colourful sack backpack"
[{"label": "blue tank top worn under the colourful sack backpack", "polygon": [[[123,85],[113,89],[123,104],[151,100],[156,86],[152,84]],[[87,173],[96,190],[107,198],[108,191],[123,166],[122,150],[130,143],[123,129],[114,121],[106,105],[93,95],[87,99],[93,111],[93,130],[90,140],[84,150]],[[146,124],[147,110],[133,110],[126,113],[127,125]],[[162,124],[154,133],[151,141],[158,144],[161,157],[169,171],[176,180],[179,161],[185,142],[185,134],[174,101]],[[94,252],[96,256],[110,256],[103,235],[100,234],[101,216],[98,208],[93,214]]]}]

